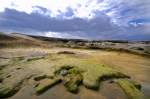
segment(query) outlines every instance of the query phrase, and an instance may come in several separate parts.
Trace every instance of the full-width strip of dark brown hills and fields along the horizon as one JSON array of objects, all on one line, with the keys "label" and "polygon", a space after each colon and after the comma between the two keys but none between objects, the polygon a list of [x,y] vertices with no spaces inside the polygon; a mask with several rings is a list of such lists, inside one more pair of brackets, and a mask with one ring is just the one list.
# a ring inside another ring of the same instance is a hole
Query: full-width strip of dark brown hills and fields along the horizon
[{"label": "full-width strip of dark brown hills and fields along the horizon", "polygon": [[101,49],[109,51],[124,51],[140,55],[150,56],[150,41],[126,41],[126,40],[82,40],[64,39],[43,36],[33,36],[20,33],[0,33],[0,48],[3,47],[69,47]]}]

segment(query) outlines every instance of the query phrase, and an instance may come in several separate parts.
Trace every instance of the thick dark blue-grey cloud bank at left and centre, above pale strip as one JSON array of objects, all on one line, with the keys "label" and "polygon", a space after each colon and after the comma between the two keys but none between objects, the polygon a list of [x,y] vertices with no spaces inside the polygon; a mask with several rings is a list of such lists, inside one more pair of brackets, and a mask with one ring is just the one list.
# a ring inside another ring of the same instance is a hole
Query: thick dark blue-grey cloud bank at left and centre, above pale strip
[{"label": "thick dark blue-grey cloud bank at left and centre, above pale strip", "polygon": [[40,32],[103,32],[114,28],[110,24],[109,18],[102,14],[90,20],[81,18],[57,19],[42,16],[39,13],[27,14],[13,9],[5,9],[5,12],[0,13],[0,27],[33,29]]}]

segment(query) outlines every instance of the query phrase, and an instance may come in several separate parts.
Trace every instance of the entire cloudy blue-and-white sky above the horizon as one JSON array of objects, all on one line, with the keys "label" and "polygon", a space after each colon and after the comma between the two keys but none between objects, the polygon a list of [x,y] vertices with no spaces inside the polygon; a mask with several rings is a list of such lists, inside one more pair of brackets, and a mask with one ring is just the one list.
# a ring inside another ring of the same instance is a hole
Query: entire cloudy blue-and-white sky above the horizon
[{"label": "entire cloudy blue-and-white sky above the horizon", "polygon": [[150,40],[150,0],[0,0],[0,31],[90,40]]}]

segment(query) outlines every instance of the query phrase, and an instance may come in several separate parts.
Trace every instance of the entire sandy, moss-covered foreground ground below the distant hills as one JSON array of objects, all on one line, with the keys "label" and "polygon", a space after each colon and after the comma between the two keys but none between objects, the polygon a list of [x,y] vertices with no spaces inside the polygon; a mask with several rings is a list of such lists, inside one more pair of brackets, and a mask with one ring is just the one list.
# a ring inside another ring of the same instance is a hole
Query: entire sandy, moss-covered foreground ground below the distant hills
[{"label": "entire sandy, moss-covered foreground ground below the distant hills", "polygon": [[3,48],[0,97],[144,99],[150,97],[149,66],[149,58],[121,52]]}]

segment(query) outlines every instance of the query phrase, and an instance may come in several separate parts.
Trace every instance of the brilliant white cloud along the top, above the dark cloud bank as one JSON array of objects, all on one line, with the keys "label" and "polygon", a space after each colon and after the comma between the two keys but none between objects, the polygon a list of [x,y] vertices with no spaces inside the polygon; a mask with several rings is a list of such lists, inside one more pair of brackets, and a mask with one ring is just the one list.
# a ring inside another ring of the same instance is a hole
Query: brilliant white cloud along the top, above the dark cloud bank
[{"label": "brilliant white cloud along the top, above the dark cloud bank", "polygon": [[74,10],[74,17],[93,18],[93,11],[99,9],[97,0],[0,0],[0,2],[1,12],[5,8],[11,8],[32,13],[35,10],[33,6],[41,6],[47,8],[52,17],[57,17],[60,12],[66,12],[70,7]]}]

